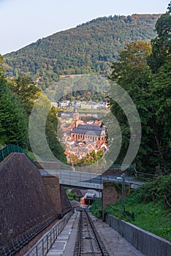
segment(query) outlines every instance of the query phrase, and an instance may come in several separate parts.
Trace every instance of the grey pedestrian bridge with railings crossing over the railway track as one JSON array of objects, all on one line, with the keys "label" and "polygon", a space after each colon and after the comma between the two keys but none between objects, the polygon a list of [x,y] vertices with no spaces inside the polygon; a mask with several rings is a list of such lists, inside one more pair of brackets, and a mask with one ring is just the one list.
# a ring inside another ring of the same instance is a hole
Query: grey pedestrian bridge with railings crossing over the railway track
[{"label": "grey pedestrian bridge with railings crossing over the railway track", "polygon": [[[95,189],[102,191],[103,181],[118,181],[118,176],[104,176],[97,173],[83,173],[74,170],[53,170],[53,169],[39,169],[42,176],[51,174],[53,176],[58,176],[59,183],[64,187],[77,187],[85,189]],[[133,181],[132,177],[126,177],[126,184],[130,184],[132,189],[140,186],[140,182]]]}]

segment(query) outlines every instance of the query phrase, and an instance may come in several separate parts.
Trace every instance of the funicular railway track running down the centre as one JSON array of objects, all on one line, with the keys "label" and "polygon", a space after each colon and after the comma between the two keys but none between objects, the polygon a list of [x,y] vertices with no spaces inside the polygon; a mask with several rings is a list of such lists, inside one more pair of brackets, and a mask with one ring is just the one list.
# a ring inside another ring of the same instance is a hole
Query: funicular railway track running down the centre
[{"label": "funicular railway track running down the centre", "polygon": [[80,211],[74,256],[110,256],[94,227],[88,212]]}]

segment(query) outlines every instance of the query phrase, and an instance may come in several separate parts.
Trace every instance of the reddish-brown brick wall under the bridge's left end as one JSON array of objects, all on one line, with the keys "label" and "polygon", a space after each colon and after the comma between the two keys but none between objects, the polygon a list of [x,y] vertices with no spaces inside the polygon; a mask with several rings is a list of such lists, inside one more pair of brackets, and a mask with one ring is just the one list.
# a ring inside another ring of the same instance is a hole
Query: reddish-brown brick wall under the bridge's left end
[{"label": "reddish-brown brick wall under the bridge's left end", "polygon": [[61,214],[61,192],[58,177],[50,175],[42,176],[42,181],[57,214]]}]

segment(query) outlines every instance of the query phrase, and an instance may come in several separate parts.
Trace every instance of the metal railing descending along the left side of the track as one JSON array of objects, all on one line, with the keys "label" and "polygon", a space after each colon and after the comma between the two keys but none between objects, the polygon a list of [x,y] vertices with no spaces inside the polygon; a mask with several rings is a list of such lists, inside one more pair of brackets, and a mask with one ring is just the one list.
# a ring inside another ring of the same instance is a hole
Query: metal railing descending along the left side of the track
[{"label": "metal railing descending along the left side of the track", "polygon": [[53,227],[53,229],[50,230],[50,232],[47,233],[45,237],[42,238],[42,240],[40,240],[36,246],[34,246],[33,249],[31,249],[31,251],[26,253],[26,256],[46,256],[54,241],[64,229],[66,223],[69,221],[72,214],[73,211],[70,211],[69,214],[66,214],[66,216],[61,219],[61,221],[58,222],[57,225]]}]

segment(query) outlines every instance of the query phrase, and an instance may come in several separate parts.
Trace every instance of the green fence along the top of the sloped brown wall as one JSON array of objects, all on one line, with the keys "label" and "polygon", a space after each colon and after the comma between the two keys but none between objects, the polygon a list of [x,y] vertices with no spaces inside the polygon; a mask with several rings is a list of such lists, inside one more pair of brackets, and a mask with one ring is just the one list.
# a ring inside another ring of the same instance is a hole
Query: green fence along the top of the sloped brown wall
[{"label": "green fence along the top of the sloped brown wall", "polygon": [[[15,153],[15,152],[17,152],[17,153],[23,153],[23,154],[26,155],[26,157],[28,157],[28,155],[26,154],[26,152],[23,151],[23,148],[21,148],[21,147],[18,146],[18,145],[9,144],[9,145],[7,145],[6,147],[4,147],[4,148],[2,148],[2,149],[0,150],[0,162],[4,161],[4,159],[5,159],[6,157],[8,157],[9,154]],[[33,161],[30,157],[28,157],[28,159],[35,165],[34,161]]]}]

